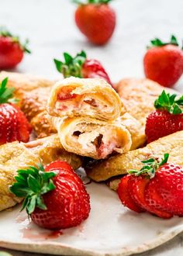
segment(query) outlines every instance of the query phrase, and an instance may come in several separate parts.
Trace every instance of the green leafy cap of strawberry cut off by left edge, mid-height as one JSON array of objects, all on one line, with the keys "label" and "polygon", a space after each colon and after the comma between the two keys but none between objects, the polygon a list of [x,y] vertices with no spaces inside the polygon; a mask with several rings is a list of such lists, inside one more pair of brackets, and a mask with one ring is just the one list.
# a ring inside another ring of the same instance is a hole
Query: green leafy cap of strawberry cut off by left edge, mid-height
[{"label": "green leafy cap of strawberry cut off by left edge, mid-height", "polygon": [[18,99],[13,98],[15,88],[7,88],[8,80],[9,78],[5,78],[0,84],[0,104],[19,102]]}]

